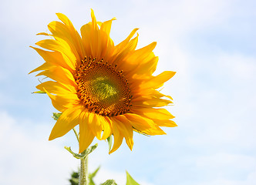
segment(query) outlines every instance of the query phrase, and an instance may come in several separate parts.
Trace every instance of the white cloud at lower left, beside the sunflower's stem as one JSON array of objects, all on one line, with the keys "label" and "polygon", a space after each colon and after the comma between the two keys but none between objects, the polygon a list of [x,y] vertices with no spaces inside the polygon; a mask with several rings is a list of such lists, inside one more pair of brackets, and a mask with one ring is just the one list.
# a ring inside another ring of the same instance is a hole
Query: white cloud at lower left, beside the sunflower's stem
[{"label": "white cloud at lower left, beside the sunflower's stem", "polygon": [[51,143],[42,136],[46,130],[49,132],[49,126],[38,124],[31,129],[8,113],[1,112],[0,117],[0,183],[67,184],[77,161],[59,142]]}]

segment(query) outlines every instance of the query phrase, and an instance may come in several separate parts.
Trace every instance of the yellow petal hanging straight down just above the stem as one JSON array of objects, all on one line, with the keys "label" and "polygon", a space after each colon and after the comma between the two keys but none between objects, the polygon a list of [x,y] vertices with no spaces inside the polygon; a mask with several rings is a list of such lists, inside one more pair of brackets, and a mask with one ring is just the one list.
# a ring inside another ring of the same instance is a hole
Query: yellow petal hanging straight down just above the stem
[{"label": "yellow petal hanging straight down just above the stem", "polygon": [[95,135],[89,128],[89,113],[84,110],[79,120],[79,153],[82,153],[93,142]]}]

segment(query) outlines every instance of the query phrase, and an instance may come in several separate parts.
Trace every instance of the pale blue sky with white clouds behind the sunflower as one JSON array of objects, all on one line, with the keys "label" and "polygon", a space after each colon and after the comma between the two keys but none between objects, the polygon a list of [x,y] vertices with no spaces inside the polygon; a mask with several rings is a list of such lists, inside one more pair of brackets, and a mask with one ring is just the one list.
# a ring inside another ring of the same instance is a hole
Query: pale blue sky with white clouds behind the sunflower
[{"label": "pale blue sky with white clouds behind the sunflower", "polygon": [[[76,29],[96,18],[116,17],[117,44],[139,29],[138,48],[157,41],[156,74],[177,71],[163,92],[176,128],[167,136],[134,134],[107,154],[107,143],[90,156],[97,182],[125,184],[125,170],[142,185],[254,185],[256,182],[256,2],[241,0],[70,1],[9,0],[0,5],[0,184],[69,184],[79,161],[73,133],[48,141],[56,112],[47,96],[31,94],[39,83],[28,72],[42,63],[29,45],[38,32],[66,14]],[[94,143],[97,141],[95,140]]]}]

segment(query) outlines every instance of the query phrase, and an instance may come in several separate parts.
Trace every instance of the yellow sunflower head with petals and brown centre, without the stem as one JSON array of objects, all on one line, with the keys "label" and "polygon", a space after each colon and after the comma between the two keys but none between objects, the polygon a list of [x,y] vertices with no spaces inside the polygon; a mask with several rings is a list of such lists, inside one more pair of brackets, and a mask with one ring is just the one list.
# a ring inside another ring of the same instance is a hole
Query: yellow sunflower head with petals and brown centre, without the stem
[{"label": "yellow sunflower head with petals and brown centre, without the stem", "polygon": [[[136,49],[138,29],[114,45],[109,37],[115,18],[97,22],[92,10],[92,22],[83,25],[81,35],[66,15],[56,14],[62,22],[50,22],[50,39],[32,47],[45,60],[32,70],[46,76],[37,89],[47,93],[52,105],[62,115],[57,120],[49,140],[63,136],[79,125],[79,153],[93,142],[113,135],[109,153],[126,140],[133,148],[133,131],[146,135],[165,134],[160,126],[177,126],[163,106],[170,105],[171,97],[158,90],[175,72],[165,71],[153,76],[158,57],[153,54],[157,42]],[[45,50],[47,49],[47,50]]]}]

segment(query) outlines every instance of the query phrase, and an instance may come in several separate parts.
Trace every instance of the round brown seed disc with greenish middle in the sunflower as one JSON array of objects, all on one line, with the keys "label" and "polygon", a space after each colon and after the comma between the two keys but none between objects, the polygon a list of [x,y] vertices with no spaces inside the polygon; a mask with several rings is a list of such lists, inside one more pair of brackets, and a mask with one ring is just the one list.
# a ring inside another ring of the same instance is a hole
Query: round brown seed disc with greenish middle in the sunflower
[{"label": "round brown seed disc with greenish middle in the sunflower", "polygon": [[89,111],[102,116],[117,116],[130,110],[128,82],[122,72],[91,57],[82,60],[76,70],[77,96]]}]

